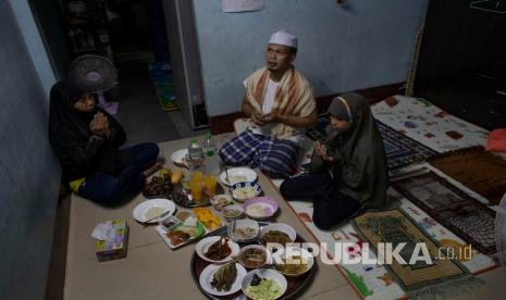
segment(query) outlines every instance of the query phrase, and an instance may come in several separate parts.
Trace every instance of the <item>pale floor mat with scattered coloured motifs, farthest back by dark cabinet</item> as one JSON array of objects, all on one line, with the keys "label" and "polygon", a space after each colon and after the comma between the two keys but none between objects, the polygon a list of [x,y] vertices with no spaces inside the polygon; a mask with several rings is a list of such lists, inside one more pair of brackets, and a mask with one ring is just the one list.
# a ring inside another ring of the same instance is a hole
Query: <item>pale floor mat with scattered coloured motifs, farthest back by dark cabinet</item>
[{"label": "pale floor mat with scattered coloured motifs, farthest back by dark cabinet", "polygon": [[371,105],[371,111],[374,118],[439,153],[484,146],[489,135],[423,99],[395,96]]}]

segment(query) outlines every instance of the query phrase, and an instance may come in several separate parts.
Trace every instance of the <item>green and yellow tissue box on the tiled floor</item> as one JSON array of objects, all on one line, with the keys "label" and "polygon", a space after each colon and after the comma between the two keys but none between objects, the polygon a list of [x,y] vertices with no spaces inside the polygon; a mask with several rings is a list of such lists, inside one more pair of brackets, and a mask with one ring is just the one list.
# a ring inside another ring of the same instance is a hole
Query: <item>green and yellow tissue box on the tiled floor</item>
[{"label": "green and yellow tissue box on the tiled floor", "polygon": [[95,253],[99,262],[123,259],[126,257],[128,246],[128,225],[124,220],[110,220],[106,222],[113,229],[106,240],[97,240]]}]

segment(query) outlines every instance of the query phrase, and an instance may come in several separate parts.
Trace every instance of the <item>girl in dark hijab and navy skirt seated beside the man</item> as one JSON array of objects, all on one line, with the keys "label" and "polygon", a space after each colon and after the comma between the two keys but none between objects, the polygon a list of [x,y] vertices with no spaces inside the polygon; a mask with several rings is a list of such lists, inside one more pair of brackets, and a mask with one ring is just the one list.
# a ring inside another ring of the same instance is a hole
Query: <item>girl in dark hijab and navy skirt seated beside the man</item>
[{"label": "girl in dark hijab and navy skirt seated beside the man", "polygon": [[386,204],[388,173],[383,139],[367,100],[357,93],[334,99],[329,108],[328,141],[316,141],[311,171],[286,179],[287,199],[312,199],[320,229]]}]

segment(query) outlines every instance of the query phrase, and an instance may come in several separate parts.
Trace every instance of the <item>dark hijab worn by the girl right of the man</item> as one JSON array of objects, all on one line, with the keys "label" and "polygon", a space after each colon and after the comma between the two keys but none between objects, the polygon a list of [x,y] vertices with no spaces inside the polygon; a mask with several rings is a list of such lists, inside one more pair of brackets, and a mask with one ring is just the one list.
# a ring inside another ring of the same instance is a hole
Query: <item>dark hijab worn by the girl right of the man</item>
[{"label": "dark hijab worn by the girl right of the man", "polygon": [[383,207],[386,204],[388,170],[383,139],[367,100],[355,92],[342,95],[332,101],[329,113],[350,123],[343,133],[328,128],[328,146],[341,157],[333,170],[337,190],[366,208]]}]

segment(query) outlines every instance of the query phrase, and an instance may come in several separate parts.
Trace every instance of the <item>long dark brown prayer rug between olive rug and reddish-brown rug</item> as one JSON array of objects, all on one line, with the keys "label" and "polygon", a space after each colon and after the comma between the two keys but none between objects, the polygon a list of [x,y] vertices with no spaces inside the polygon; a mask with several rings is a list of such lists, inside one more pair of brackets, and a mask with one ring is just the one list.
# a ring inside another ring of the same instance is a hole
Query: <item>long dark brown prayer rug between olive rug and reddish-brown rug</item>
[{"label": "long dark brown prayer rug between olive rug and reddish-brown rug", "polygon": [[495,212],[433,172],[392,183],[392,186],[485,254],[496,252]]}]

